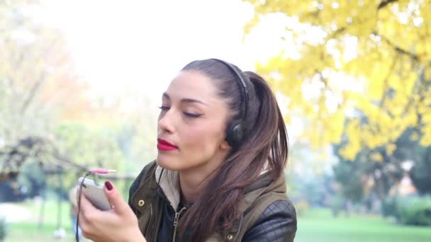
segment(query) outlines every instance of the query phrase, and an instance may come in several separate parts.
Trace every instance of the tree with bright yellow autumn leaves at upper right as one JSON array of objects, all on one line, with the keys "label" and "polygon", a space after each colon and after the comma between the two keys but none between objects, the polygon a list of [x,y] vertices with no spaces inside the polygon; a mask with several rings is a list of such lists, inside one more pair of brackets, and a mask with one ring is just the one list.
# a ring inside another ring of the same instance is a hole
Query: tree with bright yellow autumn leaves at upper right
[{"label": "tree with bright yellow autumn leaves at upper right", "polygon": [[307,118],[314,147],[346,134],[347,160],[363,147],[391,156],[409,127],[431,145],[430,0],[247,2],[255,14],[246,33],[269,15],[286,23],[284,47],[257,71],[287,98],[287,122]]}]

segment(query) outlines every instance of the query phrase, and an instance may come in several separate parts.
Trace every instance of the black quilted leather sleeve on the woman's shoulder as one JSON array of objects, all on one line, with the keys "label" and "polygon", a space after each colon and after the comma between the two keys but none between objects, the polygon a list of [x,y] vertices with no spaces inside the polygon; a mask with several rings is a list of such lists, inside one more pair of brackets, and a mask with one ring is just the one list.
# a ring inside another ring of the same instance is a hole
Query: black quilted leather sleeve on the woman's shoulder
[{"label": "black quilted leather sleeve on the woman's shoulder", "polygon": [[293,241],[296,224],[296,210],[292,202],[276,200],[247,230],[244,241]]}]

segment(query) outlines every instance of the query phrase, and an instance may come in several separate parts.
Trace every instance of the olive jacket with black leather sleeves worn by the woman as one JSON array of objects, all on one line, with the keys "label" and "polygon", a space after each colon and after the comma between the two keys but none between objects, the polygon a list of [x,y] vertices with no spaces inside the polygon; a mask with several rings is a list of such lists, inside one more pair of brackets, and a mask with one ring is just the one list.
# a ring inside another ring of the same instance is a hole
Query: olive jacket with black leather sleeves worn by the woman
[{"label": "olive jacket with black leather sleeves worn by the woman", "polygon": [[[187,236],[189,234],[187,230],[180,240],[177,238],[178,234],[175,233],[176,230],[174,229],[175,214],[184,207],[181,199],[178,206],[172,206],[171,200],[164,194],[162,186],[156,183],[155,177],[159,176],[154,174],[155,170],[157,170],[155,164],[153,163],[152,168],[150,168],[152,170],[146,172],[146,169],[142,170],[141,174],[130,186],[129,195],[129,204],[138,217],[142,234],[146,236],[145,238],[148,237],[147,240],[154,242],[190,241],[189,236]],[[162,181],[162,183],[164,182]],[[262,179],[250,185],[245,190],[245,197],[247,197],[249,204],[242,207],[247,209],[244,212],[245,218],[250,219],[250,216],[255,216],[255,219],[252,219],[254,222],[250,223],[250,220],[245,219],[245,223],[240,226],[242,229],[233,226],[230,228],[229,234],[235,236],[230,238],[228,236],[225,240],[251,242],[293,241],[297,227],[296,211],[291,201],[284,195],[285,188],[283,176],[277,181],[273,181],[269,176],[262,175]],[[266,195],[267,197],[265,197]],[[262,203],[257,202],[256,196],[259,196],[259,198],[262,196],[263,200],[259,200]],[[275,197],[277,198],[273,199]],[[144,206],[138,205],[140,202],[143,205],[144,200]],[[268,200],[272,200],[272,202],[267,202]],[[177,211],[174,211],[174,207],[177,207]],[[173,236],[175,236],[174,240],[172,239]],[[213,241],[213,239],[211,238],[208,241]]]}]

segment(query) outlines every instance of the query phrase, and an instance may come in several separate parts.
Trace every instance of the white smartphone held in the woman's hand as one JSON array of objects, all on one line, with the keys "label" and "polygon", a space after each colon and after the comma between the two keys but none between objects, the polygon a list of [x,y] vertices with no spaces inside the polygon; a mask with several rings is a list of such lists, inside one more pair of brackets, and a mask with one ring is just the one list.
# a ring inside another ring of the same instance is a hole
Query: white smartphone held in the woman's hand
[{"label": "white smartphone held in the woman's hand", "polygon": [[[78,185],[81,185],[82,180],[84,180],[84,178],[79,178]],[[103,191],[103,185],[96,185],[94,180],[85,178],[84,183],[82,183],[82,193],[84,193],[85,197],[94,205],[94,207],[103,211],[111,209],[112,206]]]}]

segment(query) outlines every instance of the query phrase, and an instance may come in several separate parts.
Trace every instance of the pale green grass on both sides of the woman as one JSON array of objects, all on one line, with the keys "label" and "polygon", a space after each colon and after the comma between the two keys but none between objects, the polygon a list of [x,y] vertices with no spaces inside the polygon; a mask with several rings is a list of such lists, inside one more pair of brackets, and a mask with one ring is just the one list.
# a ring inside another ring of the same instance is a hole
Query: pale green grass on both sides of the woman
[{"label": "pale green grass on both sides of the woman", "polygon": [[[49,201],[45,205],[44,223],[38,227],[40,205],[26,202],[25,207],[36,216],[31,221],[9,224],[5,242],[54,242],[57,229],[57,203]],[[69,217],[69,204],[62,203],[62,226],[67,231],[67,238],[62,241],[74,241],[72,223]],[[398,226],[390,220],[375,215],[345,214],[332,217],[329,210],[310,210],[298,217],[296,242],[308,241],[347,241],[347,242],[398,242],[431,241],[430,227]]]}]

